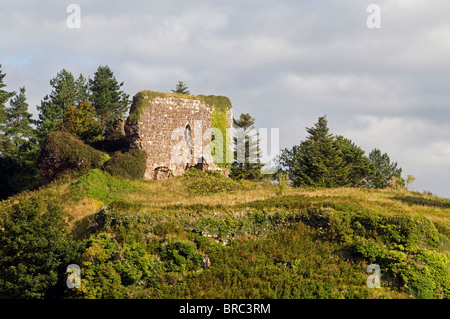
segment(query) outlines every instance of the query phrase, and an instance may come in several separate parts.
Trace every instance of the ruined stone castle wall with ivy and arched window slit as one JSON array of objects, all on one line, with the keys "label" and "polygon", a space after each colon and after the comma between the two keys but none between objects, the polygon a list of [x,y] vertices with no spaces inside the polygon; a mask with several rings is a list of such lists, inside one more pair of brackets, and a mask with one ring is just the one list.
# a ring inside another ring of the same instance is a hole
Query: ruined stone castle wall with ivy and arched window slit
[{"label": "ruined stone castle wall with ivy and arched window slit", "polygon": [[203,170],[225,167],[214,161],[208,146],[212,135],[217,138],[212,128],[219,129],[224,141],[220,161],[226,161],[232,147],[231,131],[228,138],[226,132],[232,119],[231,102],[224,96],[141,91],[133,98],[125,133],[131,146],[147,154],[144,178],[166,179],[192,166]]}]

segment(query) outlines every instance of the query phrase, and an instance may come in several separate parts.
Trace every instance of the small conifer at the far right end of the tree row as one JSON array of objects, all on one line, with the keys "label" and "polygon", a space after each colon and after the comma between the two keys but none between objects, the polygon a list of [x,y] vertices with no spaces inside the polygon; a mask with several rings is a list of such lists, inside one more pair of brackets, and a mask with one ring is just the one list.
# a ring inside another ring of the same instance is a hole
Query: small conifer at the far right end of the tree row
[{"label": "small conifer at the far right end of the tree row", "polygon": [[381,154],[381,151],[375,148],[370,152],[369,160],[375,168],[375,172],[369,180],[371,187],[386,188],[392,177],[401,178],[402,169],[397,167],[397,162],[391,163],[387,153]]}]

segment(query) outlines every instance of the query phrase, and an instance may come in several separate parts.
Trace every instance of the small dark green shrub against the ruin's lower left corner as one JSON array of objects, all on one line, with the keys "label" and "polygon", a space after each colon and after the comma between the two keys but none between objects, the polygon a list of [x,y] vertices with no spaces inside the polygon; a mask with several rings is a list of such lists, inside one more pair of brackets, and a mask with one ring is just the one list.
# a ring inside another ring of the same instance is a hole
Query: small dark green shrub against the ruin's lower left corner
[{"label": "small dark green shrub against the ruin's lower left corner", "polygon": [[132,148],[125,153],[116,152],[114,156],[105,163],[103,169],[113,176],[139,179],[144,177],[146,159],[147,157],[143,150]]}]

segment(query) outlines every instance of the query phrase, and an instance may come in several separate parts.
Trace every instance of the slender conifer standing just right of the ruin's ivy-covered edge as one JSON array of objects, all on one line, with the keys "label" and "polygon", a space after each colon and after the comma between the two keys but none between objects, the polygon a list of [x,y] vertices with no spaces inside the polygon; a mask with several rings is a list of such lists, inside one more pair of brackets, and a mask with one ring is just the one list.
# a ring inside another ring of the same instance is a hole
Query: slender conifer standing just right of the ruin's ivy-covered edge
[{"label": "slender conifer standing just right of the ruin's ivy-covered edge", "polygon": [[259,135],[255,133],[255,118],[250,114],[241,114],[239,119],[233,119],[234,162],[230,176],[234,179],[260,180],[262,178],[261,152],[259,149]]}]

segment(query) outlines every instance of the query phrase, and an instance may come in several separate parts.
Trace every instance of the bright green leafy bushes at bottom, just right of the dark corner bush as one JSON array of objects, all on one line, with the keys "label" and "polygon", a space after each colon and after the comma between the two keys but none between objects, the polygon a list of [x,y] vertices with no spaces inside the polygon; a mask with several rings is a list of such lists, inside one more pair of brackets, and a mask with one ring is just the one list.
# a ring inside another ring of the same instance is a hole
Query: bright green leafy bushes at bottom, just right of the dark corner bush
[{"label": "bright green leafy bushes at bottom, just right of the dark corner bush", "polygon": [[203,258],[188,240],[154,240],[149,247],[100,232],[88,239],[81,255],[81,289],[68,293],[89,299],[133,297],[140,287],[175,283],[200,269]]}]

